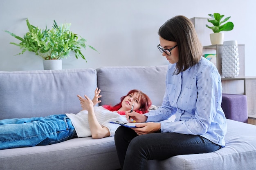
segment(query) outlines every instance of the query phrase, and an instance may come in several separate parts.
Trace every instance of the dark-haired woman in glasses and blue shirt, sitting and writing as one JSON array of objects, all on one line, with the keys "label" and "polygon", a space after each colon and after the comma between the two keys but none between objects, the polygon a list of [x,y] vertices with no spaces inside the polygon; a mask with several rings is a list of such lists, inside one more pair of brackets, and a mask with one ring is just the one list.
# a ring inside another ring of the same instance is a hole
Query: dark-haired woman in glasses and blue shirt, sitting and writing
[{"label": "dark-haired woman in glasses and blue shirt, sitting and writing", "polygon": [[[127,112],[127,119],[148,123],[117,129],[115,146],[122,170],[143,170],[148,160],[208,153],[225,146],[221,77],[216,66],[202,57],[193,23],[177,15],[158,34],[157,48],[170,63],[166,91],[157,110],[144,115]],[[172,115],[174,122],[157,123]]]}]

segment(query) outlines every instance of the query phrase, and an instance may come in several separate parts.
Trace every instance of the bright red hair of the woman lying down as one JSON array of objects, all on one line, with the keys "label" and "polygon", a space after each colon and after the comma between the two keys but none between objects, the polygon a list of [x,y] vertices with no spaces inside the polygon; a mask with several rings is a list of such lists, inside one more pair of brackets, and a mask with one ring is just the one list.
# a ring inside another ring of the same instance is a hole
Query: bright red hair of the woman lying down
[{"label": "bright red hair of the woman lying down", "polygon": [[[115,106],[103,105],[103,108],[106,108],[110,111],[119,110],[122,107],[122,102],[123,102],[124,98],[132,93],[138,93],[139,98],[140,98],[140,100],[139,100],[140,108],[138,110],[134,110],[134,111],[137,113],[140,113],[140,114],[148,113],[148,108],[151,106],[152,102],[151,102],[150,98],[148,97],[148,95],[146,95],[142,91],[136,90],[136,89],[129,91],[127,93],[127,95],[121,97],[121,102],[119,102]],[[125,112],[123,112],[123,111],[118,111],[117,113],[119,113],[120,115],[125,115]]]}]

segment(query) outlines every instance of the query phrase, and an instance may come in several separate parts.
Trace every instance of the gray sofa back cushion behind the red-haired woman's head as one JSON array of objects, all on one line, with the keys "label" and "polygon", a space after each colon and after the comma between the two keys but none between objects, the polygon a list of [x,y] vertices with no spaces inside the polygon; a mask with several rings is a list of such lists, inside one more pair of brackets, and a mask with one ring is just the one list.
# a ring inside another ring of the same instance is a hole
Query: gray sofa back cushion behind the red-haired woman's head
[{"label": "gray sofa back cushion behind the red-haired woman's head", "polygon": [[167,65],[97,68],[100,105],[115,105],[132,89],[146,93],[153,105],[161,106],[165,92]]}]

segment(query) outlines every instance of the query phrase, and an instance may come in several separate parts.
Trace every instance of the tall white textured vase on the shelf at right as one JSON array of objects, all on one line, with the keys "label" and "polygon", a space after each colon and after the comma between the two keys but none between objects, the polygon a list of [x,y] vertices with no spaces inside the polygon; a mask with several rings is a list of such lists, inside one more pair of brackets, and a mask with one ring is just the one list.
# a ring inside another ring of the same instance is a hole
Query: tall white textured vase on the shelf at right
[{"label": "tall white textured vase on the shelf at right", "polygon": [[236,40],[223,42],[221,66],[224,77],[233,78],[239,75],[239,56]]}]

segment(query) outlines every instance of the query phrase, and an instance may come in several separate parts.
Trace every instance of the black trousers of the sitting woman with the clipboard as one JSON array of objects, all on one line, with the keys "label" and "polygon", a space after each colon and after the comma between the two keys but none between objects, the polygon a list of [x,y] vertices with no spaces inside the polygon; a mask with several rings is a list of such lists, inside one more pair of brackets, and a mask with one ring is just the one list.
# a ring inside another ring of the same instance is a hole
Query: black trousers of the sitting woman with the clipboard
[{"label": "black trousers of the sitting woman with the clipboard", "polygon": [[147,160],[208,153],[221,148],[199,135],[179,133],[137,135],[134,130],[124,126],[119,126],[115,132],[115,145],[122,170],[143,170]]}]

